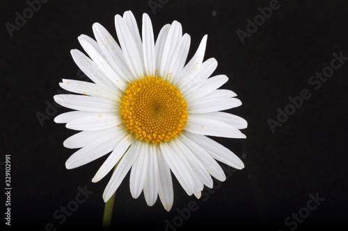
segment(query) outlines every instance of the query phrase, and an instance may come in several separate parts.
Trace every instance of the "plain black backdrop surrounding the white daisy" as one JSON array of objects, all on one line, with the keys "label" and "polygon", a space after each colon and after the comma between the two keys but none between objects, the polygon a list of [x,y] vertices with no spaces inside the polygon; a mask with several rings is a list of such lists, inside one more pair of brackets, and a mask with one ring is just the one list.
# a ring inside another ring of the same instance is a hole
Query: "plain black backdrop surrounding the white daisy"
[{"label": "plain black backdrop surrounding the white daisy", "polygon": [[[15,12],[22,15],[29,5],[2,1],[0,162],[11,155],[11,228],[45,230],[47,223],[57,230],[100,227],[102,192],[111,175],[96,184],[90,180],[106,157],[65,169],[65,160],[74,151],[64,148],[63,141],[74,131],[53,121],[66,109],[46,110],[47,103],[53,105],[62,78],[81,79],[70,56],[70,49],[82,50],[77,37],[93,37],[94,22],[115,35],[113,17],[125,10],[132,10],[139,26],[147,12],[155,37],[161,26],[179,21],[184,33],[191,35],[190,57],[208,34],[205,59],[216,58],[214,74],[229,76],[223,88],[235,91],[243,102],[230,112],[244,117],[248,128],[245,140],[216,139],[242,158],[245,169],[217,184],[214,193],[205,189],[209,195],[205,200],[187,196],[174,180],[171,211],[166,212],[159,199],[148,207],[143,194],[132,198],[128,174],[116,194],[111,228],[165,230],[166,221],[180,226],[172,230],[308,230],[347,224],[348,61],[317,90],[308,80],[330,65],[333,53],[348,56],[348,1],[279,0],[280,8],[242,44],[237,29],[246,31],[246,19],[260,15],[258,7],[269,2],[162,0],[154,14],[148,1],[51,0],[10,37],[6,23],[15,24]],[[310,91],[310,99],[271,132],[267,119],[276,120],[277,108],[284,110],[288,97],[299,96],[302,89]],[[38,112],[51,118],[40,124]],[[0,172],[4,188],[3,165]],[[94,194],[59,224],[54,212],[74,200],[77,187],[84,186]],[[325,200],[297,227],[285,225],[292,213],[304,211],[309,194]],[[177,209],[187,208],[192,200],[198,209],[180,220]],[[3,214],[5,198],[0,203]]]}]

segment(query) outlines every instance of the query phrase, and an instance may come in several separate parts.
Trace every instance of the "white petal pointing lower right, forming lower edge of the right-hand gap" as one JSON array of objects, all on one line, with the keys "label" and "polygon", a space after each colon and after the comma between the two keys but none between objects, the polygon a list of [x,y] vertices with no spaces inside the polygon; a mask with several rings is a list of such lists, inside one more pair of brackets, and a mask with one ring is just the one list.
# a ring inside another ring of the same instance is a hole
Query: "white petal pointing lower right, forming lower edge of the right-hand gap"
[{"label": "white petal pointing lower right, forming lower edge of the right-hand gap", "polygon": [[232,151],[228,150],[228,148],[222,146],[218,142],[215,142],[204,135],[196,135],[191,132],[183,132],[183,134],[204,148],[215,160],[219,160],[236,169],[244,168],[242,160],[240,160],[235,153],[232,153]]}]

